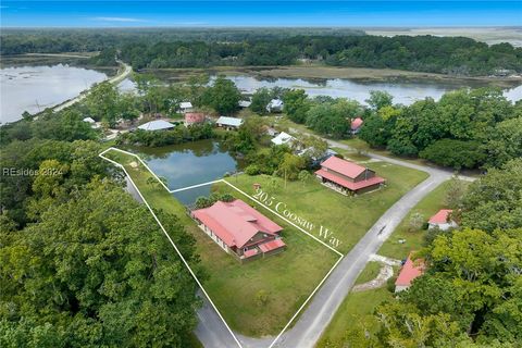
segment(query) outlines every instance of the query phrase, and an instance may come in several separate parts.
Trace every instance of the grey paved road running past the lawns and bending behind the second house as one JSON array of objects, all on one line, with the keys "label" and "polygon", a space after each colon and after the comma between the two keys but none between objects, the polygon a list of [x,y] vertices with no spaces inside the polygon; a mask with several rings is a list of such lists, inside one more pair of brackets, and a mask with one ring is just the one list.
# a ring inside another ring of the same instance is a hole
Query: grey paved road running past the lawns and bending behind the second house
[{"label": "grey paved road running past the lawns and bending behind the second house", "polygon": [[[297,129],[290,129],[299,133]],[[349,146],[334,140],[325,139],[331,147],[353,150]],[[430,174],[430,177],[415,186],[391,206],[377,222],[366,232],[353,249],[345,256],[337,268],[332,272],[323,286],[310,301],[308,308],[301,313],[293,328],[288,330],[277,340],[274,347],[312,348],[321,334],[327,327],[332,318],[349,294],[357,277],[362,272],[371,256],[376,253],[383,243],[391,235],[395,228],[406,217],[408,212],[427,194],[443,182],[449,179],[451,171],[424,166],[398,159],[384,157],[376,153],[365,153],[372,159],[389,162],[397,165],[411,167]],[[462,179],[473,181],[471,177],[460,176]],[[219,316],[210,307],[203,307],[198,316],[200,324],[196,334],[209,348],[237,347]],[[250,338],[237,335],[245,348],[266,348],[275,337]]]}]

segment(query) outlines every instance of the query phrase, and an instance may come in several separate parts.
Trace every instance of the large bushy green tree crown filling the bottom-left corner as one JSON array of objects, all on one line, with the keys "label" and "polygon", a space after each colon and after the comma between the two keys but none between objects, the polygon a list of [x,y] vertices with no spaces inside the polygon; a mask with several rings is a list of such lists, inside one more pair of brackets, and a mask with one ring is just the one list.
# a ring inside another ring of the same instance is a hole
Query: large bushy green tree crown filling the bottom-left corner
[{"label": "large bushy green tree crown filling the bottom-left corner", "polygon": [[[158,214],[197,262],[177,217]],[[0,236],[0,307],[10,308],[0,311],[2,347],[188,345],[197,285],[149,211],[120,187],[95,181]]]}]

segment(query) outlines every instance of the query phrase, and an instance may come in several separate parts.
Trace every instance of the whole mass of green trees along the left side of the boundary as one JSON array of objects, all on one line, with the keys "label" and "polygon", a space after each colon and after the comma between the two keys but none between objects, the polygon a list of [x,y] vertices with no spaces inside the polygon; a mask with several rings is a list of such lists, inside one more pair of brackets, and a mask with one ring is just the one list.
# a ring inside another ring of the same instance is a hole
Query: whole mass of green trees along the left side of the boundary
[{"label": "whole mass of green trees along the left side of the boundary", "polygon": [[0,128],[0,346],[189,347],[197,285],[78,108]]}]

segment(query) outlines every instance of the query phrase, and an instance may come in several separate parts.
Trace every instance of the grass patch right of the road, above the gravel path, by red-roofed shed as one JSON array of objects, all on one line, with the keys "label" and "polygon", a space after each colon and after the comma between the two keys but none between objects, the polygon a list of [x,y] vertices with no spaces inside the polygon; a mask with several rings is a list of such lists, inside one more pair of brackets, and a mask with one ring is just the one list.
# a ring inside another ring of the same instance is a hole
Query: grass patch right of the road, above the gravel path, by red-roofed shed
[{"label": "grass patch right of the road, above the gravel path, by red-roofed shed", "polygon": [[[468,185],[468,182],[463,182]],[[400,225],[394,231],[393,235],[383,244],[378,254],[394,259],[406,259],[411,250],[419,250],[422,247],[423,237],[426,231],[409,232],[408,223],[412,214],[419,212],[427,221],[444,206],[444,198],[449,187],[449,182],[440,184],[426,197],[424,197],[402,220]],[[405,244],[399,244],[399,239],[406,239]]]}]

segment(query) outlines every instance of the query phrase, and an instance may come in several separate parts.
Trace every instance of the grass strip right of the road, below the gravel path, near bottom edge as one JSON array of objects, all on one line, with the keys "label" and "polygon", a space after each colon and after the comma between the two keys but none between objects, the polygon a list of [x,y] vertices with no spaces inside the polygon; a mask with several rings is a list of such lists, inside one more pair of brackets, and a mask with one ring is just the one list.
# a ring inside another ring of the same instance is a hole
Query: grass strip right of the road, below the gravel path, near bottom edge
[{"label": "grass strip right of the road, below the gravel path, near bottom edge", "polygon": [[[377,262],[369,262],[356,284],[362,284],[374,278],[376,276],[375,264],[378,265],[378,269],[381,268]],[[315,347],[348,347],[346,346],[348,330],[353,328],[355,324],[363,324],[370,330],[374,327],[372,325],[373,310],[385,300],[391,300],[393,298],[393,294],[386,289],[386,286],[361,293],[350,293],[340,304]]]}]

